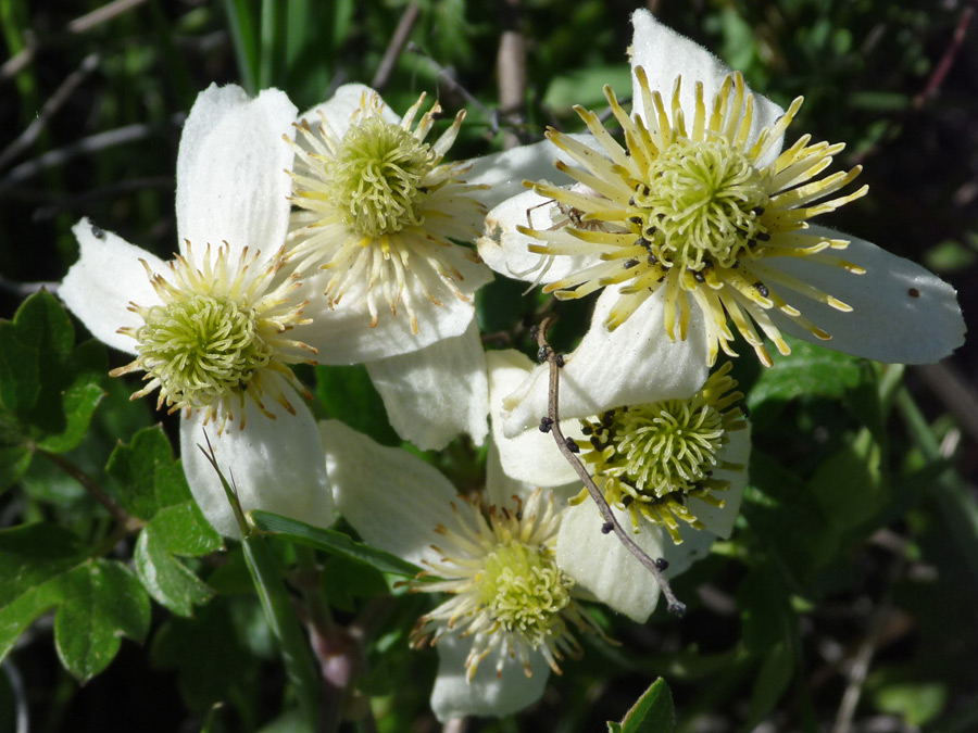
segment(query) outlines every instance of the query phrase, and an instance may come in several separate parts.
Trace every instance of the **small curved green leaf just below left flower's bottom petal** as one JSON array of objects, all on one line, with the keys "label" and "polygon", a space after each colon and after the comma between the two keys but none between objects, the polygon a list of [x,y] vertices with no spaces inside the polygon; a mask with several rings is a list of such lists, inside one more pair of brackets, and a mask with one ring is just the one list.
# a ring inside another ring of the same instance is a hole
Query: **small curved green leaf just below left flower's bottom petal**
[{"label": "small curved green leaf just below left flower's bottom petal", "polygon": [[193,606],[213,595],[193,572],[173,557],[152,523],[140,533],[134,560],[136,573],[150,595],[178,616],[190,616]]}]

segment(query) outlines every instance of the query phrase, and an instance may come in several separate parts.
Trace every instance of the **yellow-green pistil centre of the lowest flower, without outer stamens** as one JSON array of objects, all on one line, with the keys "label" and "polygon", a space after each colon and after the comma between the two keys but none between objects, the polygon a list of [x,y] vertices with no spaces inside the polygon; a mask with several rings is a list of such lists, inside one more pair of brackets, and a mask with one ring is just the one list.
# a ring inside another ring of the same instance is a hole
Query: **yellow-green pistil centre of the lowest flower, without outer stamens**
[{"label": "yellow-green pistil centre of the lowest flower, without outer stamens", "polygon": [[551,555],[510,541],[486,557],[477,592],[505,631],[518,631],[536,645],[561,622],[572,584]]}]

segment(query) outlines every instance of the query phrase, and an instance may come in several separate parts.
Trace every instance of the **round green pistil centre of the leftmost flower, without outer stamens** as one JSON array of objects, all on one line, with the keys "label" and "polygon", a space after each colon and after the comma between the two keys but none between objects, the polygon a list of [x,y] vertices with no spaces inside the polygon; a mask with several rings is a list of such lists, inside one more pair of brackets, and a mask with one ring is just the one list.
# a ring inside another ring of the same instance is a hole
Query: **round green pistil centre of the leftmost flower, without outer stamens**
[{"label": "round green pistil centre of the leftmost flower, without outer stamens", "polygon": [[212,405],[240,391],[272,361],[274,350],[258,332],[254,311],[229,299],[193,295],[153,306],[145,318],[136,350],[167,404]]}]

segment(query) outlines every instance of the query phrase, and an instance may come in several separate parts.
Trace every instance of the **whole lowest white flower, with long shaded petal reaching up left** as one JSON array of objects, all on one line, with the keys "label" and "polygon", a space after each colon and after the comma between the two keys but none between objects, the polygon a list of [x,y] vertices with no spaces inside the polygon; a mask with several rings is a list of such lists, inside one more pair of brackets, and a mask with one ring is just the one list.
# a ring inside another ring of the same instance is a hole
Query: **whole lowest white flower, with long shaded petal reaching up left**
[{"label": "whole lowest white flower, with long shaded petal reaching up left", "polygon": [[432,580],[412,591],[449,596],[412,636],[439,655],[431,692],[439,720],[530,705],[550,671],[580,655],[578,633],[602,635],[555,560],[562,498],[510,480],[490,450],[484,514],[410,453],[339,421],[319,429],[342,515],[368,543],[425,568]]}]

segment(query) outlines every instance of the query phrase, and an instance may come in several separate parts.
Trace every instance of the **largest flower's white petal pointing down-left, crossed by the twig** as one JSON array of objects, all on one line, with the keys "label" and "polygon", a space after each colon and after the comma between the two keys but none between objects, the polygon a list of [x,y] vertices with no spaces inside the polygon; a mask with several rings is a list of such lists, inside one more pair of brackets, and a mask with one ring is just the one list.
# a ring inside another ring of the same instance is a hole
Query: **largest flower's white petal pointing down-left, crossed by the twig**
[{"label": "largest flower's white petal pointing down-left, crossed by the twig", "polygon": [[[580,345],[564,357],[561,369],[561,419],[598,415],[620,405],[691,396],[706,380],[706,343],[702,314],[690,317],[686,341],[672,341],[663,328],[663,291],[649,298],[622,326],[609,331],[604,321],[618,293],[605,288],[594,306],[591,327]],[[547,415],[549,365],[503,401],[510,410],[506,435],[539,425]]]}]

